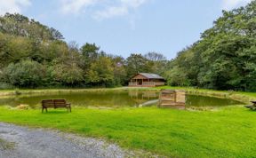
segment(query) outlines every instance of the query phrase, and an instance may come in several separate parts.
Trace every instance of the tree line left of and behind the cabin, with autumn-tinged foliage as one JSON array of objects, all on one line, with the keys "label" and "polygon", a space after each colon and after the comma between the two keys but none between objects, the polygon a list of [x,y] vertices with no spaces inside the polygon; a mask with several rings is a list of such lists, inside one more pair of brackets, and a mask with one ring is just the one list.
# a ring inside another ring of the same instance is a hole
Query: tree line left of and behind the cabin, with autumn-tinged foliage
[{"label": "tree line left of and behind the cabin, with autumn-tinged foliage", "polygon": [[7,13],[0,24],[2,88],[121,86],[138,72],[164,72],[167,62],[156,52],[124,59],[95,43],[78,47],[64,42],[58,30],[20,14]]}]

